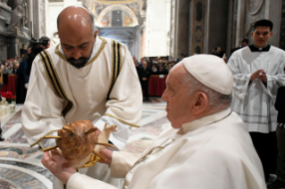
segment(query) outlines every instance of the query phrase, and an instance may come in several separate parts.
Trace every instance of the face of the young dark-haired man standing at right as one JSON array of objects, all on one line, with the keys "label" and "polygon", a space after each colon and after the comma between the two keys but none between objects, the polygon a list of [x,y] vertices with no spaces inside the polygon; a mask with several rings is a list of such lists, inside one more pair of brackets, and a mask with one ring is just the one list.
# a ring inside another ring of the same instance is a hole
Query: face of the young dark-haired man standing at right
[{"label": "face of the young dark-haired man standing at right", "polygon": [[258,26],[256,30],[251,33],[257,48],[266,46],[268,40],[272,37],[272,32],[267,26]]}]

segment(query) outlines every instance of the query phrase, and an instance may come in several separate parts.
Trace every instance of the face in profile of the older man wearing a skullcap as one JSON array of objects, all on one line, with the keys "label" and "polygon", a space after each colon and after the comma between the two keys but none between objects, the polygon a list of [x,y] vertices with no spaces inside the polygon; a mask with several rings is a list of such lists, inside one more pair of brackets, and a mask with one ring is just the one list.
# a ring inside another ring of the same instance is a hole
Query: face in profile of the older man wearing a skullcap
[{"label": "face in profile of the older man wearing a skullcap", "polygon": [[175,65],[166,79],[162,99],[167,103],[167,119],[173,128],[180,128],[191,119],[191,98],[184,82],[185,68],[182,63]]}]

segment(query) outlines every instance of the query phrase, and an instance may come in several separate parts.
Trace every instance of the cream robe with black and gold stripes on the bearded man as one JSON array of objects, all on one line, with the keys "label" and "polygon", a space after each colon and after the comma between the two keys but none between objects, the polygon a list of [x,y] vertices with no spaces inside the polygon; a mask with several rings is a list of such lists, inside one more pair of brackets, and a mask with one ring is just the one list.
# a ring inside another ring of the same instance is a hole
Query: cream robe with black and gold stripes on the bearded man
[{"label": "cream robe with black and gold stripes on the bearded man", "polygon": [[[53,70],[49,70],[53,65],[54,75]],[[49,74],[54,78],[48,77]],[[80,70],[66,62],[61,45],[38,54],[33,62],[21,120],[29,144],[80,119],[90,120],[101,130],[105,122],[116,124],[118,132],[110,136],[110,141],[122,149],[129,138],[130,127],[138,127],[140,123],[141,107],[141,87],[128,48],[112,39],[96,37],[90,60]],[[55,145],[55,140],[46,139],[40,145],[50,147]],[[80,172],[113,185],[117,182],[109,177],[106,165],[81,168]]]}]

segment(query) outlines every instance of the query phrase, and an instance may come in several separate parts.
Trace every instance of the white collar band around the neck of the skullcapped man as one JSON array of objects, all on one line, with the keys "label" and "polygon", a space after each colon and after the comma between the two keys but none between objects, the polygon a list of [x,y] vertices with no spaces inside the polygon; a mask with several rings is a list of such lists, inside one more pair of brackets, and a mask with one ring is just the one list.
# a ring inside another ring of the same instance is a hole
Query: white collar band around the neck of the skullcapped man
[{"label": "white collar band around the neck of the skullcapped man", "polygon": [[231,114],[231,109],[228,108],[223,111],[219,111],[214,114],[205,116],[203,118],[195,119],[189,123],[183,124],[177,133],[180,135],[184,135],[188,133],[189,131],[193,131],[197,129],[198,127],[203,127],[211,123],[217,122],[219,120],[222,120],[226,118],[227,116],[229,116],[230,114]]}]

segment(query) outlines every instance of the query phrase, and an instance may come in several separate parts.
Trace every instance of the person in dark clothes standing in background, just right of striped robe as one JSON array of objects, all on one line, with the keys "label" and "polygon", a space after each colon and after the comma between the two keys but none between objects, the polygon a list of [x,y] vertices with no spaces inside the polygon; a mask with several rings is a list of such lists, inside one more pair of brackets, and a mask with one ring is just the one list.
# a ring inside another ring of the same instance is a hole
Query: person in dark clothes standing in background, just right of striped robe
[{"label": "person in dark clothes standing in background, just right of striped robe", "polygon": [[151,75],[151,70],[147,68],[147,62],[144,61],[142,63],[142,68],[138,70],[138,78],[141,85],[142,90],[145,91],[145,96],[148,100],[148,81]]}]

